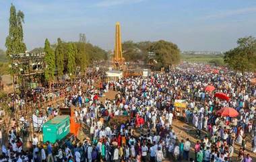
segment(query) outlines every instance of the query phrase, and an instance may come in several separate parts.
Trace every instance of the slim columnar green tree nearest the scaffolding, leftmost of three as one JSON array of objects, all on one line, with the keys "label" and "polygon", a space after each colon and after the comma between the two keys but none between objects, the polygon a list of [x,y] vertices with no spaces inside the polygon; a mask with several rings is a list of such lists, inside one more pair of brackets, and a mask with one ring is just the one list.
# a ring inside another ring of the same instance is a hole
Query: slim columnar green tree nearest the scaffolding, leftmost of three
[{"label": "slim columnar green tree nearest the scaffolding, leftmost of three", "polygon": [[46,63],[46,69],[44,71],[44,77],[46,81],[53,81],[55,75],[55,52],[51,48],[51,44],[48,39],[44,42],[44,61]]}]

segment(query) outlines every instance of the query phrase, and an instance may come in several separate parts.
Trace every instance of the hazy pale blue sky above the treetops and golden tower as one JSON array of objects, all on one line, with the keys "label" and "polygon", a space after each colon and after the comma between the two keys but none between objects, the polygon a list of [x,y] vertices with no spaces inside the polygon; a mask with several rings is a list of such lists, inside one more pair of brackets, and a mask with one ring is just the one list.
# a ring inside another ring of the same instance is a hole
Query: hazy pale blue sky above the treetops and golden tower
[{"label": "hazy pale blue sky above the treetops and golden tower", "polygon": [[5,48],[9,7],[25,14],[27,48],[57,38],[87,39],[113,49],[115,22],[122,40],[169,40],[181,50],[228,50],[237,38],[256,36],[255,0],[0,0],[0,48]]}]

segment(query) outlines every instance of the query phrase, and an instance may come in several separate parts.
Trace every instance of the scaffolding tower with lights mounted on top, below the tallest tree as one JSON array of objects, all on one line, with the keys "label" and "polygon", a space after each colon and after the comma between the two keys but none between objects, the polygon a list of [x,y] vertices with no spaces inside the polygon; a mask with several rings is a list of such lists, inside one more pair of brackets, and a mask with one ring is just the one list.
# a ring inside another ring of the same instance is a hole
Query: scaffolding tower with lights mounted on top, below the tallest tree
[{"label": "scaffolding tower with lights mounted on top, below the tallest tree", "polygon": [[[33,104],[32,99],[28,99],[28,96],[31,97],[31,90],[33,88],[32,81],[35,81],[36,78],[38,79],[36,82],[39,84],[40,80],[42,80],[44,69],[46,64],[44,62],[44,52],[42,53],[20,53],[20,54],[9,54],[10,58],[10,69],[11,75],[13,77],[13,91],[14,91],[14,99],[13,99],[13,114],[15,114],[15,118],[17,118],[17,106],[15,106],[15,99],[17,97],[16,92],[20,90],[25,101],[25,112],[29,114],[31,111],[31,120],[33,114]],[[30,105],[30,110],[28,107]],[[32,126],[32,129],[31,129]],[[34,126],[33,120],[30,124],[30,130],[32,130],[34,134]]]}]

